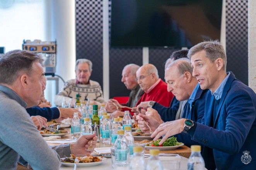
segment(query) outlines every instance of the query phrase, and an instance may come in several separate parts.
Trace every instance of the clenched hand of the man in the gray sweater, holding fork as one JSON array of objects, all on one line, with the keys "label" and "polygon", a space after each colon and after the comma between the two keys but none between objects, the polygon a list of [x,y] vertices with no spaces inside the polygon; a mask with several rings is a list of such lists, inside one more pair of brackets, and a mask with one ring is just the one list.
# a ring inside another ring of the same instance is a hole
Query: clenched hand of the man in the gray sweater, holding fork
[{"label": "clenched hand of the man in the gray sweater, holding fork", "polygon": [[97,143],[97,136],[95,133],[92,135],[82,135],[80,138],[71,145],[71,150],[74,155],[89,155],[90,152],[87,151],[87,148],[92,143],[92,146],[95,148]]}]

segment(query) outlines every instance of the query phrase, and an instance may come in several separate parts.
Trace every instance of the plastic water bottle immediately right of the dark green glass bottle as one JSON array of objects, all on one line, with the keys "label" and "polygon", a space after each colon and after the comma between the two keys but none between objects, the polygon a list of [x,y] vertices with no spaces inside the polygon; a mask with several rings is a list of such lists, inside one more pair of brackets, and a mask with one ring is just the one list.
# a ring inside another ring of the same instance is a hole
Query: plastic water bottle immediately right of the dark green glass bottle
[{"label": "plastic water bottle immediately right of the dark green glass bottle", "polygon": [[102,143],[110,145],[110,134],[111,134],[111,130],[112,130],[112,126],[109,121],[110,116],[106,115],[106,116],[104,116],[104,118],[105,118],[105,120],[104,120],[104,122],[102,122],[102,134],[101,134]]}]

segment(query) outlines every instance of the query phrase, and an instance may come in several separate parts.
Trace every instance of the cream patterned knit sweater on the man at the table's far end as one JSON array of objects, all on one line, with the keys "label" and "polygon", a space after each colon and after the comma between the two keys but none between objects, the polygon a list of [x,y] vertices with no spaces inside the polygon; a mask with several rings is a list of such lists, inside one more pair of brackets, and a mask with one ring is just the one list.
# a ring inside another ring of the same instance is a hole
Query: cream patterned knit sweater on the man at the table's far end
[{"label": "cream patterned knit sweater on the man at the table's far end", "polygon": [[98,82],[89,80],[89,84],[77,84],[76,79],[71,79],[65,82],[64,87],[56,95],[54,103],[61,106],[63,98],[75,99],[77,94],[81,96],[81,101],[93,99],[97,101],[97,104],[104,102],[101,86]]}]

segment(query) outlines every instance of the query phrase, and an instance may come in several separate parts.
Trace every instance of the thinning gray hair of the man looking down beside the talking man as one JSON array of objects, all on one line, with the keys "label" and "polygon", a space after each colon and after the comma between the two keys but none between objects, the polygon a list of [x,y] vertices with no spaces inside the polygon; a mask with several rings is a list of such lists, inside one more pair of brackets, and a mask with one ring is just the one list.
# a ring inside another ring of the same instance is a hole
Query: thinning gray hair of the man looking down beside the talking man
[{"label": "thinning gray hair of the man looking down beside the talking man", "polygon": [[193,74],[193,68],[188,58],[177,59],[171,62],[166,69],[169,69],[172,66],[177,66],[180,76],[182,76],[185,72],[189,72],[191,75]]}]

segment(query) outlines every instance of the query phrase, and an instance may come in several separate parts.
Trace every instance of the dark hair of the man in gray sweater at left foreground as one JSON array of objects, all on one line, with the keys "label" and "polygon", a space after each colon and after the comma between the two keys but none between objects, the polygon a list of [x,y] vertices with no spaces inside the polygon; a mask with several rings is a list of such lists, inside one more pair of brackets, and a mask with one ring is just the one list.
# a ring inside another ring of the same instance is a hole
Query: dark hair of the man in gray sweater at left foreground
[{"label": "dark hair of the man in gray sweater at left foreground", "polygon": [[29,76],[34,72],[34,62],[42,64],[43,59],[38,54],[25,50],[12,50],[0,56],[0,83],[12,85],[20,74]]}]

